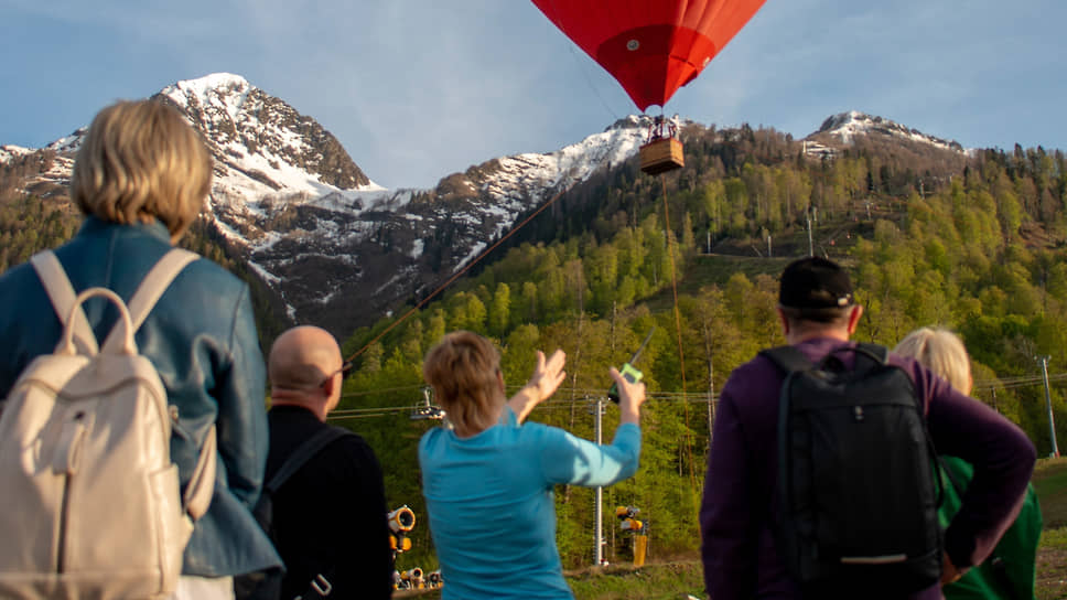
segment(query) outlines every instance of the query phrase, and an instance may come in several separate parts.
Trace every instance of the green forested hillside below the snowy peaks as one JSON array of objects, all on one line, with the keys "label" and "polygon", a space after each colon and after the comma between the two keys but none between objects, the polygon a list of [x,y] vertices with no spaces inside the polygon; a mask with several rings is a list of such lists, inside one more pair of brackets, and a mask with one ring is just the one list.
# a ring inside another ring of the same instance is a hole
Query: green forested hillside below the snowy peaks
[{"label": "green forested hillside below the snowy peaks", "polygon": [[[562,347],[567,383],[531,418],[592,438],[592,398],[604,394],[607,367],[655,325],[639,365],[651,396],[642,469],[605,490],[605,506],[608,514],[640,507],[650,557],[694,550],[715,393],[732,368],[784,342],[776,277],[809,251],[850,269],[866,308],[860,340],[892,346],[919,325],[958,331],[974,358],[976,396],[1018,422],[1043,456],[1052,441],[1036,357],[1049,356],[1057,433],[1067,443],[1063,152],[966,156],[856,138],[815,158],[801,141],[747,126],[690,127],[686,143],[685,169],[659,179],[630,163],[594,176],[403,322],[410,306],[345,341],[346,355],[359,352],[358,369],[335,419],[375,448],[390,507],[408,504],[424,517],[416,444],[438,421],[410,417],[423,400],[421,358],[443,333],[468,329],[496,340],[511,389],[528,377],[536,350]],[[78,223],[54,191],[19,190],[22,168],[36,167],[0,168],[4,269],[69,237]],[[186,245],[244,270],[203,228]],[[266,321],[269,296],[244,275],[258,290],[266,345],[282,325]],[[610,438],[613,406],[604,421]],[[557,503],[564,565],[591,562],[592,491],[561,488]],[[627,559],[617,524],[605,519],[605,532],[608,560]],[[416,547],[400,566],[434,568],[424,519],[413,533]]]}]

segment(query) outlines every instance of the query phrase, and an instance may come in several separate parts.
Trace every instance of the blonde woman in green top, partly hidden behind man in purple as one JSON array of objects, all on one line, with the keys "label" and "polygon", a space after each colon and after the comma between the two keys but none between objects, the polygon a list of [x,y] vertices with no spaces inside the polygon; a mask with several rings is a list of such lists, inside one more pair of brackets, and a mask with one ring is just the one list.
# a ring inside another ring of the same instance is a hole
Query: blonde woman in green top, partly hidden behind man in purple
[{"label": "blonde woman in green top, partly hidden behind man in purple", "polygon": [[[941,328],[922,328],[909,333],[895,349],[940,375],[953,387],[970,395],[970,358],[963,342]],[[938,514],[947,527],[960,508],[960,496],[970,484],[974,468],[956,457],[941,457],[941,483],[945,500]],[[1034,600],[1034,569],[1037,542],[1041,538],[1041,506],[1034,486],[1026,488],[1023,507],[1015,522],[1004,532],[993,553],[981,565],[967,571],[944,588],[947,600],[1003,599]]]}]

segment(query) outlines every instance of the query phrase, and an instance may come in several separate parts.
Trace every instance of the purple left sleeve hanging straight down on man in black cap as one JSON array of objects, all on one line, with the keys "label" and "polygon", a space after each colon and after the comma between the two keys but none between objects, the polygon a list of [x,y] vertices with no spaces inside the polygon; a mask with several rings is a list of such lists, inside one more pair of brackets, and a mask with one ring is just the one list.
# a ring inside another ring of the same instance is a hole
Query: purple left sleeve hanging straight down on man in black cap
[{"label": "purple left sleeve hanging straight down on man in black cap", "polygon": [[756,581],[753,482],[737,406],[728,382],[720,396],[700,506],[701,559],[708,594],[751,598]]}]

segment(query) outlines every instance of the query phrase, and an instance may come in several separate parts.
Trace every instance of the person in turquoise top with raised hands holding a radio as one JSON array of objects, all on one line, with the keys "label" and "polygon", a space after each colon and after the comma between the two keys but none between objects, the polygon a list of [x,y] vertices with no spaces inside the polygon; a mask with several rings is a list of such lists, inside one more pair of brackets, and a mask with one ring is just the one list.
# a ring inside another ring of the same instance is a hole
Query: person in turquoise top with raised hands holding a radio
[{"label": "person in turquoise top with raised hands holding a radio", "polygon": [[449,427],[419,442],[430,532],[448,585],[442,599],[558,598],[573,594],[556,547],[556,484],[611,485],[637,471],[645,385],[610,369],[619,392],[611,444],[524,420],[563,382],[565,355],[537,353],[530,381],[505,396],[500,356],[468,331],[444,336],[422,374]]}]

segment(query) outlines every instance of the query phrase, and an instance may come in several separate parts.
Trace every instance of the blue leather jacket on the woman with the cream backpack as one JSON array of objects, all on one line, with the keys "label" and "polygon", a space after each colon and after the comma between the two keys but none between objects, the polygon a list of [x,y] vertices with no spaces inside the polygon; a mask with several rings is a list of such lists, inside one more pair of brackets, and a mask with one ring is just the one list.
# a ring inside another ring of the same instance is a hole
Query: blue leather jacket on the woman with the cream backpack
[{"label": "blue leather jacket on the woman with the cream backpack", "polygon": [[[170,248],[159,222],[119,225],[88,217],[55,254],[76,291],[104,286],[129,301]],[[116,309],[104,298],[89,299],[84,309],[103,342]],[[0,398],[33,357],[55,349],[60,334],[60,320],[30,265],[0,277]],[[218,425],[215,493],[196,522],[182,572],[225,576],[280,565],[249,510],[262,486],[268,429],[263,357],[248,287],[211,260],[196,260],[163,293],[136,341],[177,408],[171,459],[183,489],[211,425]]]}]

